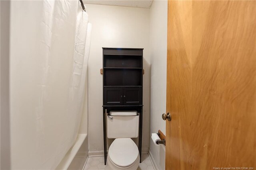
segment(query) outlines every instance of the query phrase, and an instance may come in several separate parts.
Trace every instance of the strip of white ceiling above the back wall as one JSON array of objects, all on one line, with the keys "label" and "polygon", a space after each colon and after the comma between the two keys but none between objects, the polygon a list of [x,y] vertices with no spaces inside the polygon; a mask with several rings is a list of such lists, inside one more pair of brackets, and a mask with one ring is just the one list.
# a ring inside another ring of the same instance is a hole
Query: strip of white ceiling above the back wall
[{"label": "strip of white ceiling above the back wall", "polygon": [[150,8],[153,0],[83,0],[85,4]]}]

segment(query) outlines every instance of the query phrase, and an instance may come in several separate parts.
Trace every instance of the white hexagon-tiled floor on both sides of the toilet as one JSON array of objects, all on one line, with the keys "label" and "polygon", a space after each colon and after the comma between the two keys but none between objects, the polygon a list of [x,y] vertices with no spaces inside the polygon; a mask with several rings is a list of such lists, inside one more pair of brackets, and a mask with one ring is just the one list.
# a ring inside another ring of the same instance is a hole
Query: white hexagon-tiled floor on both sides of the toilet
[{"label": "white hexagon-tiled floor on both sides of the toilet", "polygon": [[[141,161],[137,170],[154,170],[148,154],[142,154]],[[84,170],[105,170],[106,166],[104,156],[89,157]]]}]

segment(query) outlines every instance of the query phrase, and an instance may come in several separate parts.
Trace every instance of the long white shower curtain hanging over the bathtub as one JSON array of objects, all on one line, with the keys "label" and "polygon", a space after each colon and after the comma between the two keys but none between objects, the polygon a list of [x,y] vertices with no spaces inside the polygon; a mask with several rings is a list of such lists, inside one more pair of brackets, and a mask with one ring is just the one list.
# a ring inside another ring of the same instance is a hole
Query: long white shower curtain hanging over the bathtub
[{"label": "long white shower curtain hanging over the bathtub", "polygon": [[90,51],[78,0],[11,1],[11,168],[56,168],[74,144]]}]

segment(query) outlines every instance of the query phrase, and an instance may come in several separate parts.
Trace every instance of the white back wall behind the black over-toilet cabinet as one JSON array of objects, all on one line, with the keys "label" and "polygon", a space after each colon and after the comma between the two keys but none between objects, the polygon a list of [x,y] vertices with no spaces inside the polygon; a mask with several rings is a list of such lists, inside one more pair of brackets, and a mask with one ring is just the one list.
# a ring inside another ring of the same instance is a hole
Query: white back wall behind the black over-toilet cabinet
[{"label": "white back wall behind the black over-toilet cabinet", "polygon": [[[86,4],[92,23],[89,57],[89,127],[90,152],[102,154],[102,47],[144,48],[143,136],[142,151],[149,146],[149,9]],[[144,148],[144,149],[143,149]]]}]

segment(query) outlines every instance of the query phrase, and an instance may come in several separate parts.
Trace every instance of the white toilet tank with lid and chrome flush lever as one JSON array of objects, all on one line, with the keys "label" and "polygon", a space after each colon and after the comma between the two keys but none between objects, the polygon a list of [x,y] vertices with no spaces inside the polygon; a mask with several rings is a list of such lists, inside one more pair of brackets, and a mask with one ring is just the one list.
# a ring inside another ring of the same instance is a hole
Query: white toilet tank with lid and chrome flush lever
[{"label": "white toilet tank with lid and chrome flush lever", "polygon": [[110,111],[107,117],[107,136],[113,138],[136,138],[139,135],[137,111]]}]

